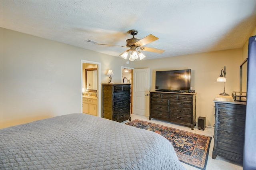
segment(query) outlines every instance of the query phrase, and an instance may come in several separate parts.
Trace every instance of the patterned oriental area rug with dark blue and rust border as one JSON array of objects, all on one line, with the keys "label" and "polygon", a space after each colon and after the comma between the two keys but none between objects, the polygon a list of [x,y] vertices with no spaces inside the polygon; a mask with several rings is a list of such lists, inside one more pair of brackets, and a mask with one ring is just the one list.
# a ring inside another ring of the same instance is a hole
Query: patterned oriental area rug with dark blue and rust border
[{"label": "patterned oriental area rug with dark blue and rust border", "polygon": [[205,170],[212,137],[137,119],[126,123],[126,125],[161,134],[170,141],[181,162]]}]

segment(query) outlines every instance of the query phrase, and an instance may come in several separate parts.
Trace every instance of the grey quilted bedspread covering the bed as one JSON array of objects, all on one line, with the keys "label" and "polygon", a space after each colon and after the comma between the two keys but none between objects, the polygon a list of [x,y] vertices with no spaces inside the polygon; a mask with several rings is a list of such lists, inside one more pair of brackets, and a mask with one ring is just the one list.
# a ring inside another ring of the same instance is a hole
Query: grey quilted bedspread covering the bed
[{"label": "grey quilted bedspread covering the bed", "polygon": [[1,169],[183,170],[161,135],[73,113],[0,130]]}]

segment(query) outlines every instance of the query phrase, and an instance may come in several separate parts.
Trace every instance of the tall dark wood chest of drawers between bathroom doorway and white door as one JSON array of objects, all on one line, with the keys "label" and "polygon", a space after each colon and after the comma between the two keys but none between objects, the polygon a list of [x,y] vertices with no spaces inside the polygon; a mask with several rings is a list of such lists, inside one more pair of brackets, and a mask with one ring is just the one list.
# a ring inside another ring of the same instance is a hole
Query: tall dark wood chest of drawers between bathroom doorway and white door
[{"label": "tall dark wood chest of drawers between bathroom doorway and white door", "polygon": [[131,84],[102,84],[102,117],[112,121],[131,121]]}]

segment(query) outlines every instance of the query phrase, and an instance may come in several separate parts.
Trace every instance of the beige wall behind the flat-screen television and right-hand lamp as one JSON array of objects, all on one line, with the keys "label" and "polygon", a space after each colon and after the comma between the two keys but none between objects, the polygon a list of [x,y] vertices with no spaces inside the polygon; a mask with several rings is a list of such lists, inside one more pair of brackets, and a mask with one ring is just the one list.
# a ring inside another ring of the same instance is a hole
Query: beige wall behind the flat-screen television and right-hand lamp
[{"label": "beige wall behind the flat-screen television and right-hand lamp", "polygon": [[216,82],[226,66],[226,93],[239,90],[239,67],[242,49],[197,53],[135,63],[135,68],[150,68],[150,90],[155,90],[155,72],[162,70],[191,69],[191,87],[196,90],[196,121],[206,117],[206,125],[214,125],[214,102],[223,93],[224,83]]}]

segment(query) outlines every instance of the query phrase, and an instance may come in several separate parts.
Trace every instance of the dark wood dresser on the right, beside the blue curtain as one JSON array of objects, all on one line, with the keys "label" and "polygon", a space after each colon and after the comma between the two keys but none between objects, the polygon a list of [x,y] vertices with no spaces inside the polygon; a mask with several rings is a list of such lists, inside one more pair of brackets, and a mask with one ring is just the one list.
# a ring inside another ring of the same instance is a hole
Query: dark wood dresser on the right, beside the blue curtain
[{"label": "dark wood dresser on the right, beside the blue curtain", "polygon": [[236,102],[231,96],[218,95],[215,103],[214,148],[217,155],[243,162],[246,102]]}]

